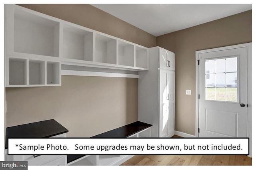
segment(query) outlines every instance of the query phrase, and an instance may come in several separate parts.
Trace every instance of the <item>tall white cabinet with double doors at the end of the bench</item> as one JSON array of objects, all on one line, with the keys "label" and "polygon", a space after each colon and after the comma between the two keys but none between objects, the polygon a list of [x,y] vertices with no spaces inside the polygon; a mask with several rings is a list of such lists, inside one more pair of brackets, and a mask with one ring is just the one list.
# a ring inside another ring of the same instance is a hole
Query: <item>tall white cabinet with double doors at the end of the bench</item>
[{"label": "tall white cabinet with double doors at the end of the bench", "polygon": [[174,53],[149,49],[149,70],[139,72],[138,120],[152,124],[152,137],[174,135]]}]

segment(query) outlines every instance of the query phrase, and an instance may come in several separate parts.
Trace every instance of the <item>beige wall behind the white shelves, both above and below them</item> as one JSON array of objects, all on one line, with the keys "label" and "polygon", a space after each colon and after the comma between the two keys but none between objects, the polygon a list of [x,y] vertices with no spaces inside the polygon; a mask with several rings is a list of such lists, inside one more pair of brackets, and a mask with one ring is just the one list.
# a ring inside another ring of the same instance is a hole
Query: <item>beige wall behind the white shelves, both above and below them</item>
[{"label": "beige wall behind the white shelves, both above and below them", "polygon": [[[156,37],[86,4],[23,4],[32,10],[146,47]],[[6,126],[56,119],[69,137],[89,137],[138,120],[138,79],[62,76],[60,87],[6,88]]]}]

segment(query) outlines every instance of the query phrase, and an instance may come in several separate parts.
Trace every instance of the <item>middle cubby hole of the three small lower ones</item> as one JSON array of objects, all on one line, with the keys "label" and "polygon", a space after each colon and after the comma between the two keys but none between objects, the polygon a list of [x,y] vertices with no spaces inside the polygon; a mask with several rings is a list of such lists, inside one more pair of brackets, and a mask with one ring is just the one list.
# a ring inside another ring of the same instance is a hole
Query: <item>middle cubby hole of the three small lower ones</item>
[{"label": "middle cubby hole of the three small lower ones", "polygon": [[29,84],[43,85],[45,84],[44,61],[30,60],[29,61]]}]

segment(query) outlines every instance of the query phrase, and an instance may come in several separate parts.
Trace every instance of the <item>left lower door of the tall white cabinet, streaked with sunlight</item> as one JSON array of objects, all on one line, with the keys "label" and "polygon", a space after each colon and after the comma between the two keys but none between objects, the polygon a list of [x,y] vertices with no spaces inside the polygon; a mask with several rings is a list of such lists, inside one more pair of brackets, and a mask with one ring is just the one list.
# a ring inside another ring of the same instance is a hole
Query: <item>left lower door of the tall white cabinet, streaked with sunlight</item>
[{"label": "left lower door of the tall white cabinet, streaked with sunlight", "polygon": [[168,70],[159,70],[159,137],[167,135],[167,124],[168,124]]}]

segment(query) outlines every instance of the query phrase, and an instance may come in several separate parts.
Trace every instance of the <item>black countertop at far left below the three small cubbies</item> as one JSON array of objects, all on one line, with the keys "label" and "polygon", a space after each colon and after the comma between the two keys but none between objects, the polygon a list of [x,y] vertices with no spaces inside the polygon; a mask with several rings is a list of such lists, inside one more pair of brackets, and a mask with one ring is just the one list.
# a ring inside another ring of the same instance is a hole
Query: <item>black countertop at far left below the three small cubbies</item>
[{"label": "black countertop at far left below the three small cubbies", "polygon": [[5,148],[8,148],[8,138],[48,138],[66,132],[68,129],[54,119],[7,127]]}]

